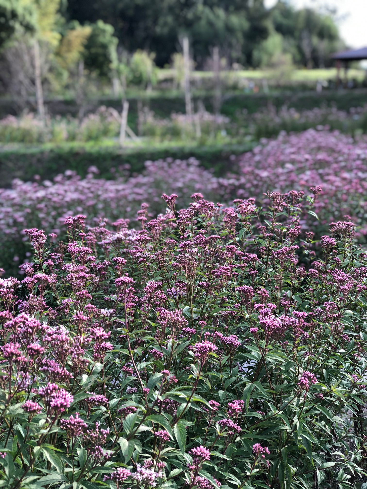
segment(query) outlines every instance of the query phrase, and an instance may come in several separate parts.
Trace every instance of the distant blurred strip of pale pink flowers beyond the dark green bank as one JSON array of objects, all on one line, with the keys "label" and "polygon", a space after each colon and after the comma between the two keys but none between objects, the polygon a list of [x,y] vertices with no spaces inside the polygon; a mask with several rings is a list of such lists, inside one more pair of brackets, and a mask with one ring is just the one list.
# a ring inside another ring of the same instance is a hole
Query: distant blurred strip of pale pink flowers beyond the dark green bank
[{"label": "distant blurred strip of pale pink flowers beyond the dark green bank", "polygon": [[[48,117],[42,123],[35,114],[24,113],[20,117],[8,115],[0,120],[1,143],[62,143],[66,141],[100,141],[117,138],[121,116],[115,109],[101,106],[86,115],[81,121],[74,117]],[[147,107],[138,114],[139,144],[167,142],[198,144],[241,143],[243,138],[259,140],[272,137],[281,131],[300,132],[321,127],[340,130],[351,135],[367,133],[367,106],[341,111],[336,107],[321,107],[297,111],[283,106],[276,109],[270,104],[253,114],[237,111],[229,118],[212,114],[199,104],[192,115],[172,112],[161,118]]]}]

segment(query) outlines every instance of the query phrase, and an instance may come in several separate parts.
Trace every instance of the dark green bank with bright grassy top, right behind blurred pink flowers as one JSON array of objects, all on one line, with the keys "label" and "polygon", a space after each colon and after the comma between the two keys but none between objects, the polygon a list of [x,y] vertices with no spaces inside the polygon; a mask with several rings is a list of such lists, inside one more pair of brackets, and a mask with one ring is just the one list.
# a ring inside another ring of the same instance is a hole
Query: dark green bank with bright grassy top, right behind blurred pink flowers
[{"label": "dark green bank with bright grassy top, right behind blurred pink flowers", "polygon": [[85,177],[94,165],[102,178],[114,178],[115,171],[130,165],[130,172],[141,172],[144,162],[172,157],[188,159],[195,157],[206,169],[213,169],[216,176],[226,173],[231,166],[231,155],[240,155],[252,149],[254,143],[229,146],[181,147],[172,149],[143,148],[121,150],[118,147],[55,146],[52,149],[21,148],[0,153],[0,187],[9,187],[14,178],[31,180],[35,175],[52,179],[65,170],[74,170]]}]

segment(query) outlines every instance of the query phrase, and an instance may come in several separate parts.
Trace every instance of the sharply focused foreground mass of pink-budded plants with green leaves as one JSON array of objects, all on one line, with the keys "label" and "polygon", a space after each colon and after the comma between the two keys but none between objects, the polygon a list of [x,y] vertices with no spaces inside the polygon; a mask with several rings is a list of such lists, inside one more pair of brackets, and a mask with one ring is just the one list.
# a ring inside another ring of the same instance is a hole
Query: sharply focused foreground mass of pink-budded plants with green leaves
[{"label": "sharply focused foreground mass of pink-budded plants with green leaves", "polygon": [[364,476],[367,255],[334,222],[175,195],[34,248],[1,279],[0,481],[36,488],[353,488]]}]

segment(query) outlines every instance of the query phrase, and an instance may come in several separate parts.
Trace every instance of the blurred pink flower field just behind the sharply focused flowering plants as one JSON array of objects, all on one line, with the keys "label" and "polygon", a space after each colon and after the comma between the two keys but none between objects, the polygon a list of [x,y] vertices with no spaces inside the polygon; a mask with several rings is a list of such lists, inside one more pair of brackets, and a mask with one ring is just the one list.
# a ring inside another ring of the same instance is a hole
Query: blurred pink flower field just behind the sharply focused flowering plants
[{"label": "blurred pink flower field just behind the sharply focused flowering plants", "polygon": [[115,180],[98,178],[94,168],[85,179],[66,172],[52,182],[16,180],[11,189],[0,189],[0,233],[5,250],[1,265],[7,271],[15,270],[29,252],[22,241],[24,228],[39,227],[61,236],[65,217],[77,213],[85,214],[90,225],[100,218],[110,222],[130,219],[134,225],[142,202],[149,204],[150,216],[164,211],[163,192],[177,194],[179,207],[188,205],[193,192],[224,202],[253,197],[260,205],[267,203],[264,194],[268,191],[307,193],[316,186],[321,186],[313,211],[317,217],[302,216],[302,227],[312,225],[320,236],[328,223],[348,216],[357,226],[357,238],[363,241],[367,233],[367,139],[355,141],[338,132],[308,130],[262,140],[252,152],[238,158],[235,173],[223,178],[189,159],[146,162],[141,174]]}]

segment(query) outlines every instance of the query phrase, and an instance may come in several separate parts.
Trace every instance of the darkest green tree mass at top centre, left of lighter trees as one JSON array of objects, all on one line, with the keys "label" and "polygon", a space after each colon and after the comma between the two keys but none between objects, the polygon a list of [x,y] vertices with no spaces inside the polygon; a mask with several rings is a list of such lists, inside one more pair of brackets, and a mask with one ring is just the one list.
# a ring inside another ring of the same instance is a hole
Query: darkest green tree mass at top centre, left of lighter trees
[{"label": "darkest green tree mass at top centre, left of lighter trees", "polygon": [[181,50],[184,36],[199,65],[214,46],[230,60],[251,63],[253,48],[268,35],[263,0],[69,0],[68,13],[81,23],[112,24],[128,51],[155,52],[158,66]]}]

